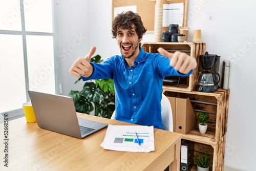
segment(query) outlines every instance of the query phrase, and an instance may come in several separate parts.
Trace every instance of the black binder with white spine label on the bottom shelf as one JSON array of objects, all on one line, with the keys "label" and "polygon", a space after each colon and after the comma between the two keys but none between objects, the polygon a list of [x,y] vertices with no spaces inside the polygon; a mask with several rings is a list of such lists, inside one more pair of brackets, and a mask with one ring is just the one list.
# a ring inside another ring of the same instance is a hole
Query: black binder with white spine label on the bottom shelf
[{"label": "black binder with white spine label on the bottom shelf", "polygon": [[180,171],[188,171],[194,164],[194,142],[182,139],[180,149]]}]

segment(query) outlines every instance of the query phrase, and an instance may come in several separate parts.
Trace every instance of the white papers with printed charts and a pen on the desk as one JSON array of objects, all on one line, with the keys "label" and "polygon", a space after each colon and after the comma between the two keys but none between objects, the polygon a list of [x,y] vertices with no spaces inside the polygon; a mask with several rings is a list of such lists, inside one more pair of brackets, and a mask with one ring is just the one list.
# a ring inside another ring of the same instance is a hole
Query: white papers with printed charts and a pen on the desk
[{"label": "white papers with printed charts and a pen on the desk", "polygon": [[154,151],[154,127],[109,125],[101,146],[115,151]]}]

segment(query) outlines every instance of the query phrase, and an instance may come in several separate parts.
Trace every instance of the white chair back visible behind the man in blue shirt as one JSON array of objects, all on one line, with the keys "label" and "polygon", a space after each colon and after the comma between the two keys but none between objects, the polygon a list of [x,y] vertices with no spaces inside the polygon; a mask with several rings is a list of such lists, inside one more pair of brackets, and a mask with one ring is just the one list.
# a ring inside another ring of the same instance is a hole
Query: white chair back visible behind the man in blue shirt
[{"label": "white chair back visible behind the man in blue shirt", "polygon": [[[162,94],[161,106],[162,106],[161,115],[163,120],[163,130],[173,132],[172,106],[170,106],[170,101],[164,94]],[[116,111],[113,112],[111,119],[113,120],[116,119]]]}]

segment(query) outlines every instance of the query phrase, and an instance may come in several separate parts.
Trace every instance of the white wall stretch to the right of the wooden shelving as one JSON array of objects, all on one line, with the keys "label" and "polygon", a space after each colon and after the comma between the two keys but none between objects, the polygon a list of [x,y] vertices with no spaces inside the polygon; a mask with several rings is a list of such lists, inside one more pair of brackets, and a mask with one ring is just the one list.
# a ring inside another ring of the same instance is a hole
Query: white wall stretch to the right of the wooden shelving
[{"label": "white wall stretch to the right of the wooden shelving", "polygon": [[[221,60],[230,60],[230,96],[225,148],[225,165],[255,170],[249,161],[256,159],[255,112],[256,91],[256,2],[190,1],[188,26],[202,30],[202,39],[209,53]],[[214,14],[210,20],[207,13]],[[195,15],[192,15],[195,14]],[[193,17],[192,17],[193,16]],[[190,36],[190,38],[193,35]],[[222,62],[221,62],[222,63]],[[251,131],[247,131],[251,130]]]}]

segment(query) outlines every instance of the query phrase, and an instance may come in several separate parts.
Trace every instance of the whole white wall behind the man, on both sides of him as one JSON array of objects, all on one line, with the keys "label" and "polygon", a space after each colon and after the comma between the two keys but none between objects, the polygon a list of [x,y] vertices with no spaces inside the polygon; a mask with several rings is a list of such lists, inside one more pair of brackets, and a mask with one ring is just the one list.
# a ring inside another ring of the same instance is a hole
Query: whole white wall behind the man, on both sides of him
[{"label": "whole white wall behind the man, on both sides of him", "polygon": [[[111,38],[111,0],[62,0],[59,3],[60,50],[72,45],[75,34],[87,37],[62,61],[63,94],[68,95],[70,90],[79,90],[79,86],[74,85],[76,78],[68,73],[78,56],[86,55],[92,46],[97,47],[95,54],[104,59],[120,52],[115,39]],[[252,145],[256,142],[253,136],[256,129],[253,110],[256,97],[255,16],[254,0],[190,0],[188,6],[188,40],[191,41],[195,29],[201,29],[206,51],[220,55],[221,64],[223,60],[231,61],[225,165],[245,170],[255,170],[251,161],[256,159],[256,148]],[[154,35],[147,33],[143,41],[154,41]]]}]

